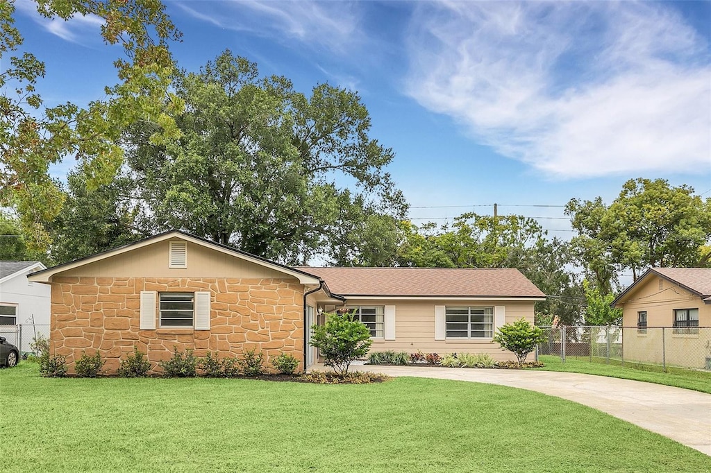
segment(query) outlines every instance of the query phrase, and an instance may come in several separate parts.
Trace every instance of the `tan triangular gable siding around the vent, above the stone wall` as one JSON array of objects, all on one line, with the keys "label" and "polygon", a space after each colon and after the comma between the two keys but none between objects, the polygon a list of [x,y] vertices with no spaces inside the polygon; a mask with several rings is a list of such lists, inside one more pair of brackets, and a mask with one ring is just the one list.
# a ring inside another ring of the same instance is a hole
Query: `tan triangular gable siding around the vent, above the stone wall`
[{"label": "tan triangular gable siding around the vent, above the stone wall", "polygon": [[144,278],[284,278],[284,273],[188,241],[188,267],[169,268],[170,241],[142,246],[101,261],[58,273],[57,276]]}]

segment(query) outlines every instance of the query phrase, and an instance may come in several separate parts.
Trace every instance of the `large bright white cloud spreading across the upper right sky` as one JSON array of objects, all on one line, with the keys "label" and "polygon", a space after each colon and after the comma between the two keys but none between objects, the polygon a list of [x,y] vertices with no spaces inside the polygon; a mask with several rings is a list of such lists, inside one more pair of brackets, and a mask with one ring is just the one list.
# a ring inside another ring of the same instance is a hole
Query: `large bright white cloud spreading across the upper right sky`
[{"label": "large bright white cloud spreading across the upper right sky", "polygon": [[419,4],[407,91],[548,175],[711,170],[709,45],[661,4]]}]

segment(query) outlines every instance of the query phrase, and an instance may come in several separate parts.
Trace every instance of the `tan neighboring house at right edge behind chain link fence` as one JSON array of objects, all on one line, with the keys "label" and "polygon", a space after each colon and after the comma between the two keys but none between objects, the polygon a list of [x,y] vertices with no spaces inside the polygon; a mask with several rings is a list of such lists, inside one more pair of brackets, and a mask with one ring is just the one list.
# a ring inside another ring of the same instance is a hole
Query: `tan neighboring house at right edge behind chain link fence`
[{"label": "tan neighboring house at right edge behind chain link fence", "polygon": [[622,309],[626,360],[709,369],[711,268],[651,268],[612,305]]}]

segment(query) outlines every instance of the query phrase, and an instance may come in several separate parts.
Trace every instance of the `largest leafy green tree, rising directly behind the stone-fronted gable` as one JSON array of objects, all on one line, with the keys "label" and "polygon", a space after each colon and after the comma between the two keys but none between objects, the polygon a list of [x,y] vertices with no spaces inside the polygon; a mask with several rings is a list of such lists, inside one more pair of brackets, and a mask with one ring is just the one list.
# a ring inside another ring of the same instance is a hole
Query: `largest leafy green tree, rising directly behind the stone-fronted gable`
[{"label": "largest leafy green tree, rising directly behind the stone-fronted gable", "polygon": [[156,127],[144,122],[127,135],[128,175],[156,229],[304,263],[352,259],[363,238],[344,226],[404,214],[385,172],[392,150],[368,136],[370,116],[355,92],[324,84],[307,97],[229,50],[200,72],[181,72],[174,86],[186,104],[176,116],[181,138],[150,141]]}]

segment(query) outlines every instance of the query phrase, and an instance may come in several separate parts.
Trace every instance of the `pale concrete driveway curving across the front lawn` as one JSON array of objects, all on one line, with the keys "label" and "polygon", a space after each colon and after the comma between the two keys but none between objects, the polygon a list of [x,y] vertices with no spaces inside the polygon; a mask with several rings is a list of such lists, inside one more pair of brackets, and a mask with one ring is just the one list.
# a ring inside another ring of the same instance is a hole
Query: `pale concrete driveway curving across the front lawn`
[{"label": "pale concrete driveway curving across the front lawn", "polygon": [[474,381],[538,391],[599,409],[711,456],[711,394],[555,371],[367,365],[355,368],[389,376]]}]

